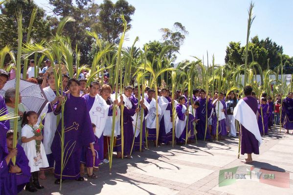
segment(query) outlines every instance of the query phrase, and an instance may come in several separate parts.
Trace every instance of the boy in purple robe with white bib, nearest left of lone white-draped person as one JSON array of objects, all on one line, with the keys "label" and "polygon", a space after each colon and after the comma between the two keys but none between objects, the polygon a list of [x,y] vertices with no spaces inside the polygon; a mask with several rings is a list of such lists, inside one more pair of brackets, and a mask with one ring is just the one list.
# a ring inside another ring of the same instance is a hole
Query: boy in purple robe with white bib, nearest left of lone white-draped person
[{"label": "boy in purple robe with white bib, nearest left of lone white-draped person", "polygon": [[[217,136],[217,126],[218,126],[218,135],[220,136],[220,140],[225,140],[222,136],[227,135],[225,116],[224,116],[227,113],[227,108],[226,108],[226,103],[223,99],[224,99],[224,94],[222,92],[220,92],[219,98],[213,102],[214,115],[213,115],[212,134],[213,134],[214,140]],[[217,103],[218,101],[220,101],[219,111],[217,111],[218,110],[218,103]],[[219,112],[219,118],[218,118],[218,112]],[[220,112],[222,112],[222,113],[220,113]],[[218,124],[218,121],[219,121],[219,124]]]}]

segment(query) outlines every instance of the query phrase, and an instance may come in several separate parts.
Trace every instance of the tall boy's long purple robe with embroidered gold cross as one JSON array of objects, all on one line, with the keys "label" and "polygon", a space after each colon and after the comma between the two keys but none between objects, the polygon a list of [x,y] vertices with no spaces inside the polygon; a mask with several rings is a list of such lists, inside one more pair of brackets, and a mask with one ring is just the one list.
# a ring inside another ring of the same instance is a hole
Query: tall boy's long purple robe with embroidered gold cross
[{"label": "tall boy's long purple robe with embroidered gold cross", "polygon": [[[67,164],[63,170],[63,179],[77,179],[80,177],[80,158],[82,146],[87,146],[94,142],[94,133],[92,131],[90,114],[88,112],[87,102],[82,97],[74,97],[71,94],[66,95],[67,99],[64,108],[64,126],[65,138],[64,146],[68,144],[65,149],[64,159]],[[61,113],[56,110],[57,102],[54,106],[54,113],[58,115]],[[60,178],[61,172],[61,120],[57,127],[55,137],[53,139],[51,150],[55,158],[55,177]],[[75,145],[72,145],[75,144]],[[72,146],[70,148],[70,146]],[[73,147],[74,146],[74,147]],[[66,156],[68,154],[68,156]],[[69,156],[70,154],[70,156]]]}]

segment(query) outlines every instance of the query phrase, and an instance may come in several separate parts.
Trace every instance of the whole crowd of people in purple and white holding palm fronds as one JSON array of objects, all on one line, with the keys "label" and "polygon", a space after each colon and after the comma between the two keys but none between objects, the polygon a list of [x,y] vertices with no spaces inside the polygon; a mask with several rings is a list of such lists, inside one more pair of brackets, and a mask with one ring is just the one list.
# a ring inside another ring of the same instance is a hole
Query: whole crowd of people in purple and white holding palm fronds
[{"label": "whole crowd of people in purple and white holding palm fronds", "polygon": [[[55,86],[50,63],[46,60],[45,68],[39,70],[38,78],[34,78],[34,61],[31,60],[26,73],[28,81],[40,84],[48,100],[40,115],[25,111],[21,96],[16,94],[14,88],[6,90],[4,98],[0,96],[0,109],[6,109],[6,113],[14,112],[15,97],[20,96],[18,129],[13,129],[14,120],[0,121],[1,195],[14,195],[23,188],[29,192],[43,189],[39,178],[46,179],[50,173],[56,177],[55,184],[68,179],[83,181],[85,173],[88,178],[97,178],[94,172],[102,164],[109,163],[113,133],[116,157],[132,158],[132,153],[143,151],[147,142],[155,146],[157,141],[158,145],[168,145],[173,137],[178,145],[197,140],[225,140],[236,137],[238,129],[242,137],[241,154],[248,154],[246,162],[249,163],[252,153],[259,154],[260,135],[268,134],[274,124],[280,124],[279,120],[288,133],[293,129],[293,93],[282,101],[277,97],[275,103],[265,93],[262,98],[256,98],[250,86],[244,89],[245,98],[234,91],[227,95],[215,92],[211,96],[203,89],[194,89],[192,97],[189,97],[186,89],[177,90],[172,99],[166,88],[145,87],[145,91],[139,94],[138,86],[125,86],[123,93],[118,94],[120,89],[108,83],[109,73],[105,73],[103,80],[92,81],[88,87],[86,72],[75,78],[63,75],[62,92]],[[9,76],[0,69],[0,89],[12,78],[15,75]],[[157,98],[155,90],[158,91]],[[281,104],[282,117],[279,114]],[[252,113],[254,118],[246,112]],[[235,118],[240,123],[236,123]],[[254,127],[250,127],[251,124]],[[258,133],[253,129],[257,129]],[[19,137],[16,148],[12,147],[14,131],[18,131]],[[16,164],[11,161],[13,156],[16,156]]]}]

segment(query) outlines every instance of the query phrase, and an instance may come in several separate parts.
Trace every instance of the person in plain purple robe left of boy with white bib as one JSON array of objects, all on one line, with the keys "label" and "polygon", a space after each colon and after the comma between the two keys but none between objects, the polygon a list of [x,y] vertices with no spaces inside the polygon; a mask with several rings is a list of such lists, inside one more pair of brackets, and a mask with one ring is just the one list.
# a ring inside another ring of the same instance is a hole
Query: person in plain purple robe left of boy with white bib
[{"label": "person in plain purple robe left of boy with white bib", "polygon": [[[207,104],[206,104],[206,99],[207,99]],[[203,140],[204,134],[206,134],[205,139],[207,139],[208,141],[213,141],[209,133],[208,125],[207,127],[205,127],[206,117],[208,119],[212,112],[212,108],[213,108],[212,100],[209,99],[209,96],[206,95],[205,91],[202,89],[200,92],[200,98],[198,98],[197,101],[200,102],[200,107],[198,107],[197,109],[197,113],[199,116],[199,128],[198,128],[197,136],[199,139]]]}]

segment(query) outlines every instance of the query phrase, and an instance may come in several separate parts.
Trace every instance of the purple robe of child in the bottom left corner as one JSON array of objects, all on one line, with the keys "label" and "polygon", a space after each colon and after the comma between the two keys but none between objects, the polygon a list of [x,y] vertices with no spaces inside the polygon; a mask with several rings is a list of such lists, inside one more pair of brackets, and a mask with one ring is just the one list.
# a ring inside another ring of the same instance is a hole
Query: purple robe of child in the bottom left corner
[{"label": "purple robe of child in the bottom left corner", "polygon": [[[5,136],[6,138],[6,136]],[[22,170],[21,173],[9,173],[9,167],[12,161],[6,164],[7,151],[0,149],[0,195],[17,195],[23,190],[24,185],[29,182],[31,177],[30,167],[28,166],[28,159],[25,156],[23,147],[16,145],[18,153],[16,156],[16,165]]]}]

